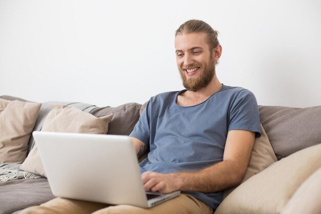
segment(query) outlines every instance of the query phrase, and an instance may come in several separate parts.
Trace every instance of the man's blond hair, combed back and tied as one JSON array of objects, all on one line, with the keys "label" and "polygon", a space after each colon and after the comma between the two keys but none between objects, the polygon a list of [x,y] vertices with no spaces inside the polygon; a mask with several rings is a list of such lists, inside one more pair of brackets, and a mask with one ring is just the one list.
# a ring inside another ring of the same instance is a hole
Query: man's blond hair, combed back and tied
[{"label": "man's blond hair, combed back and tied", "polygon": [[210,51],[212,52],[214,48],[219,45],[217,40],[218,31],[213,30],[213,28],[201,20],[189,20],[184,24],[180,25],[175,32],[175,37],[178,34],[183,33],[193,33],[193,32],[203,32],[207,34],[207,43],[210,46]]}]

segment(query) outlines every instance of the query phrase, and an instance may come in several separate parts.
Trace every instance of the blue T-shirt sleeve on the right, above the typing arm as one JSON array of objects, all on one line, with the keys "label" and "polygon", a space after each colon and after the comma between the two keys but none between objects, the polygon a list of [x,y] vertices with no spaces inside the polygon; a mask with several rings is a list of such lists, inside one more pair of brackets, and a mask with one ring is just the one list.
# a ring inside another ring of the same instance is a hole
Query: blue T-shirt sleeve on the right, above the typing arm
[{"label": "blue T-shirt sleeve on the right, above the typing arm", "polygon": [[231,104],[228,131],[237,129],[253,131],[255,138],[261,135],[257,102],[247,89],[240,91]]}]

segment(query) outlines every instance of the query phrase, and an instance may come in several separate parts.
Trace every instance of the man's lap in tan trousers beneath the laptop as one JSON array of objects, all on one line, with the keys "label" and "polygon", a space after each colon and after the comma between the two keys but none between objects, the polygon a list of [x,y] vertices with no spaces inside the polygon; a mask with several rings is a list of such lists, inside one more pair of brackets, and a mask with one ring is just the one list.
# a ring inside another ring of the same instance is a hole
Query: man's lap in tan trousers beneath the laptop
[{"label": "man's lap in tan trousers beneath the laptop", "polygon": [[213,213],[213,210],[189,194],[180,194],[179,197],[152,208],[141,208],[131,205],[108,205],[94,202],[55,198],[39,206],[24,209],[19,214],[107,214],[107,213]]}]

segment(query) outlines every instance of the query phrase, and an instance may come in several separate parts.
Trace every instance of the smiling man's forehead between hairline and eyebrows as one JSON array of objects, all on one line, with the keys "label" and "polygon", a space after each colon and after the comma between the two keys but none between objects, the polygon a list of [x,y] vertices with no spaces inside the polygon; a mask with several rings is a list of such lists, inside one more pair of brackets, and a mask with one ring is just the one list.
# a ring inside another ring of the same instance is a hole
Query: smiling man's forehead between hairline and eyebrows
[{"label": "smiling man's forehead between hairline and eyebrows", "polygon": [[201,47],[203,49],[209,49],[209,45],[206,42],[206,33],[184,33],[178,34],[175,38],[176,50],[188,50],[193,47]]}]

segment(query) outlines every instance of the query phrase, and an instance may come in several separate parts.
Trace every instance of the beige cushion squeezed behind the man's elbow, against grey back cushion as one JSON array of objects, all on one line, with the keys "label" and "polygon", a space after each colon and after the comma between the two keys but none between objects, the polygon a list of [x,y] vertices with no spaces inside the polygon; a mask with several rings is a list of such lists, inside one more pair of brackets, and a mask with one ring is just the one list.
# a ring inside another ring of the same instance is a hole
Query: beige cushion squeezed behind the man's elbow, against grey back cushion
[{"label": "beige cushion squeezed behind the man's elbow, against grey back cushion", "polygon": [[[270,144],[269,138],[263,126],[261,125],[261,137],[255,139],[250,162],[242,179],[242,183],[276,161],[277,159]],[[226,198],[233,189],[235,188],[226,189],[224,191],[224,198]]]}]

